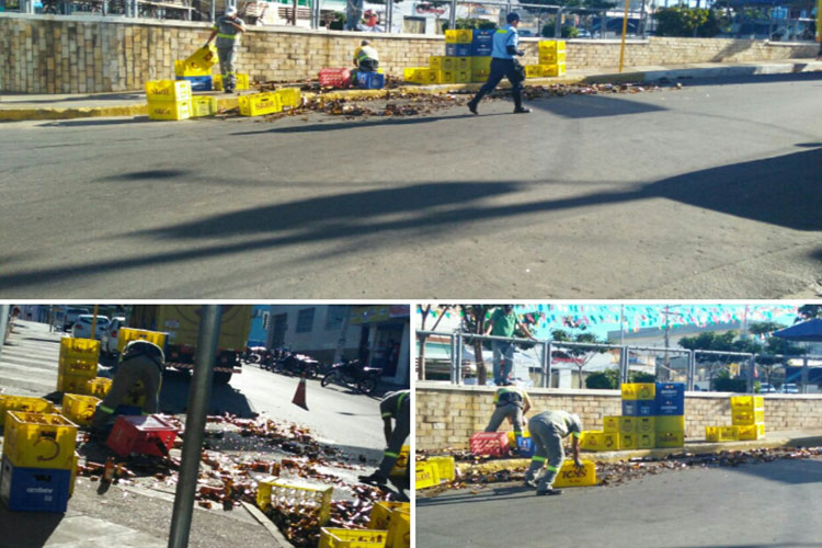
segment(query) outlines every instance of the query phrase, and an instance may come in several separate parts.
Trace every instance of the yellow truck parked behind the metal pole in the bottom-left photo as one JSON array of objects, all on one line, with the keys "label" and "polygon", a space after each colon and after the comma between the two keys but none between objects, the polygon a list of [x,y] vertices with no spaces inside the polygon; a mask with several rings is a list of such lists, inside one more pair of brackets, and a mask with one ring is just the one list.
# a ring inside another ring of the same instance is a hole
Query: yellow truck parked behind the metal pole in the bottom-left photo
[{"label": "yellow truck parked behind the metal pole in the bottom-left photo", "polygon": [[[252,307],[221,306],[214,381],[225,385],[231,380],[231,375],[242,373],[240,354],[246,350],[246,341],[251,331]],[[199,305],[134,305],[128,327],[167,333],[165,366],[181,370],[193,369],[202,310]]]}]

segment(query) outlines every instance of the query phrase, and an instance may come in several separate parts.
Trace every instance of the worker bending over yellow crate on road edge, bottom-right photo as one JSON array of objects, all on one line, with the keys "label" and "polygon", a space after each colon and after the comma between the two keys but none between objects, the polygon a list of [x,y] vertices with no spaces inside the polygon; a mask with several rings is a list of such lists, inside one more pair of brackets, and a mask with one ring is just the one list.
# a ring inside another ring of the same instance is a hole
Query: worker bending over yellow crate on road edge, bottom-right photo
[{"label": "worker bending over yellow crate on road edge, bottom-right photo", "polygon": [[[562,438],[568,437],[569,434],[572,436],[573,461],[578,467],[582,466],[580,461],[582,422],[579,415],[566,411],[543,411],[530,418],[528,431],[535,450],[530,458],[530,467],[525,472],[525,486],[536,488],[538,495],[562,494],[561,489],[553,489],[553,480],[557,479],[566,458]],[[537,475],[545,466],[548,469],[537,482]]]}]

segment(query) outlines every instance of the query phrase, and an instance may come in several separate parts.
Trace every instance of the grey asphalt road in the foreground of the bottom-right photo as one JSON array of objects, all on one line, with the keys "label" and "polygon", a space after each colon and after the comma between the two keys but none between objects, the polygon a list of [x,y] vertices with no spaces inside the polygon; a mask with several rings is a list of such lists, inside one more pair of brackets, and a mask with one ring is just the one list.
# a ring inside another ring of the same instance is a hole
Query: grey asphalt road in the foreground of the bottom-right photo
[{"label": "grey asphalt road in the foreground of the bottom-right photo", "polygon": [[822,459],[688,469],[535,496],[517,487],[416,501],[419,547],[822,546]]}]

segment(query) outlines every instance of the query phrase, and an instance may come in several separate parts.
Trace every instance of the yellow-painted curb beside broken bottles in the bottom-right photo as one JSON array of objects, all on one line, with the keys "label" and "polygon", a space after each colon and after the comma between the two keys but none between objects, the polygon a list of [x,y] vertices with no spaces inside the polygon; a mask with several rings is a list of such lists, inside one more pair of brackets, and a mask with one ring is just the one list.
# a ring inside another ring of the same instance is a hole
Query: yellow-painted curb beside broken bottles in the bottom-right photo
[{"label": "yellow-painted curb beside broken bottles in the bottom-right photo", "polygon": [[[641,449],[641,450],[621,450],[621,452],[602,452],[602,453],[580,453],[580,459],[593,460],[595,463],[619,463],[635,458],[665,458],[671,455],[723,453],[729,450],[751,450],[751,449],[776,449],[779,447],[795,447],[808,445],[822,445],[822,436],[809,437],[783,437],[776,439],[758,439],[751,442],[723,442],[723,443],[695,443],[687,444],[685,447],[675,449]],[[506,458],[489,463],[472,464],[457,463],[456,468],[460,473],[480,472],[494,473],[512,468],[524,468],[530,464],[529,458]]]}]

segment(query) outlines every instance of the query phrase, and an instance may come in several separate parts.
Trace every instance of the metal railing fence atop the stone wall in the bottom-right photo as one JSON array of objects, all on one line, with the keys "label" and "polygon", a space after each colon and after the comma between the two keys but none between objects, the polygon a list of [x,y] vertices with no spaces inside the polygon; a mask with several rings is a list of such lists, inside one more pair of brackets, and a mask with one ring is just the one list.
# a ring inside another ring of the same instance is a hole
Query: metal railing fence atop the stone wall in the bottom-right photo
[{"label": "metal railing fence atop the stone wall in the bottom-right photo", "polygon": [[[569,370],[572,364],[576,368],[576,377],[570,376],[572,383],[563,388],[581,388],[583,374],[591,356],[610,354],[612,364],[601,359],[596,364],[598,372],[617,369],[618,384],[629,381],[633,374],[652,375],[658,381],[682,381],[689,391],[713,390],[718,378],[730,378],[735,383],[732,390],[754,392],[756,384],[763,391],[775,391],[774,379],[779,379],[783,386],[796,386],[796,393],[808,393],[811,385],[822,385],[822,356],[781,356],[773,354],[751,354],[740,352],[719,352],[704,350],[686,350],[681,347],[632,346],[620,344],[594,344],[552,340],[529,340],[517,338],[502,338],[477,335],[464,331],[416,331],[418,339],[418,378],[430,379],[436,373],[447,373],[447,381],[454,385],[469,384],[476,377],[475,350],[468,347],[475,341],[504,341],[515,346],[525,347],[518,356],[515,355],[514,365],[521,362],[524,375],[520,377],[525,384],[540,388],[558,388],[560,370]],[[445,342],[443,342],[445,341]],[[445,346],[445,352],[431,357],[426,352],[424,362],[420,359],[419,350],[422,345],[426,350],[436,344]],[[469,355],[470,354],[470,355]],[[491,365],[484,357],[483,363]],[[800,361],[802,365],[790,365],[789,361]],[[524,364],[522,364],[524,362]],[[447,368],[447,372],[444,372]],[[488,367],[490,370],[490,367]],[[527,372],[527,373],[526,373]],[[723,373],[727,372],[727,373]],[[573,372],[572,372],[573,373]],[[491,376],[489,375],[489,378]],[[813,378],[811,378],[813,377]],[[767,379],[767,380],[766,380]],[[578,383],[573,383],[578,380]],[[489,383],[490,384],[490,383]],[[744,387],[742,386],[744,385]],[[770,389],[765,387],[769,386]],[[789,391],[788,393],[792,393]]]}]

